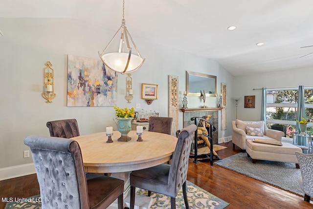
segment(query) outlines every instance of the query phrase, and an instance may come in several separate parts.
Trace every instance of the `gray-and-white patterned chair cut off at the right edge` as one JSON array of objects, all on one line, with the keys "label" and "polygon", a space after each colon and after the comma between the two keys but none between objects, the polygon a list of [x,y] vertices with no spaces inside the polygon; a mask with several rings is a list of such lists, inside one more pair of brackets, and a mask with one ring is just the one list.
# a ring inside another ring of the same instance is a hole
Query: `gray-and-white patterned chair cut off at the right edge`
[{"label": "gray-and-white patterned chair cut off at the right edge", "polygon": [[302,176],[299,179],[299,185],[304,191],[304,200],[310,203],[310,199],[313,197],[313,154],[295,152],[295,155],[297,156]]}]

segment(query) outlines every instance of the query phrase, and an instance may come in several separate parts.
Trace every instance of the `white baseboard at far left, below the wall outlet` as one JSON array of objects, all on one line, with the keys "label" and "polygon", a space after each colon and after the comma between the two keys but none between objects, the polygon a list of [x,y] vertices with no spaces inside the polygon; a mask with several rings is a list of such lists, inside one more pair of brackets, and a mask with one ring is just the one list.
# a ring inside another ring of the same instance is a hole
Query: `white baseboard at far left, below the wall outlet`
[{"label": "white baseboard at far left, below the wall outlet", "polygon": [[0,168],[0,181],[36,173],[34,163]]}]

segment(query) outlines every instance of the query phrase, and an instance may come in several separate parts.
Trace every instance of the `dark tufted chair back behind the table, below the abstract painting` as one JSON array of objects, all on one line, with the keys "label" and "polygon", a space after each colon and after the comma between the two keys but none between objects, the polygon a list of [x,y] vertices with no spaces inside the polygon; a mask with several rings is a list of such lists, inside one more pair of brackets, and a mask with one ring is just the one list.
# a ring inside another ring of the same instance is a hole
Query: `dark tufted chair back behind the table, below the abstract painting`
[{"label": "dark tufted chair back behind the table, below the abstract painting", "polygon": [[47,122],[50,137],[61,137],[70,139],[79,136],[76,119],[54,120]]}]

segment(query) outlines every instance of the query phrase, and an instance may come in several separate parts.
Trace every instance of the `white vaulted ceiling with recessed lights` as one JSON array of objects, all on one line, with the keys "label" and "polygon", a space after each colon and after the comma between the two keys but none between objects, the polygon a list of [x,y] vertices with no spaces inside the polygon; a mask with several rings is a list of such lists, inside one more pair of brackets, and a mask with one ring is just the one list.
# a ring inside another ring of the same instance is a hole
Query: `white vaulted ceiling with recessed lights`
[{"label": "white vaulted ceiling with recessed lights", "polygon": [[[72,18],[116,31],[122,0],[0,0],[0,18]],[[211,58],[234,76],[313,66],[313,55],[300,58],[313,52],[300,48],[313,45],[313,0],[125,0],[125,20],[135,43]]]}]

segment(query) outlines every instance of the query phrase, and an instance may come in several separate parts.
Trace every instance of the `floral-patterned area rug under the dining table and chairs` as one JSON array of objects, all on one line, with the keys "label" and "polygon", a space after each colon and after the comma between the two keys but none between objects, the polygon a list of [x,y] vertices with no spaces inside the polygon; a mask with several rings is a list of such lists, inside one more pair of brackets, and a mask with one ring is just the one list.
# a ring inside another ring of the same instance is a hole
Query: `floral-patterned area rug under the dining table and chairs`
[{"label": "floral-patterned area rug under the dining table and chairs", "polygon": [[[213,194],[205,191],[204,189],[196,186],[187,181],[188,186],[188,203],[191,209],[224,209],[229,205],[224,200],[214,196]],[[147,195],[147,191],[139,189],[137,194]],[[166,195],[161,195],[158,193],[151,193],[153,198],[151,209],[170,209],[171,201]],[[13,201],[7,203],[5,209],[41,209],[40,196],[36,195],[28,198],[20,198],[21,201]],[[24,201],[23,201],[24,200]],[[185,209],[185,203],[183,200],[182,190],[176,197],[176,208]]]}]

